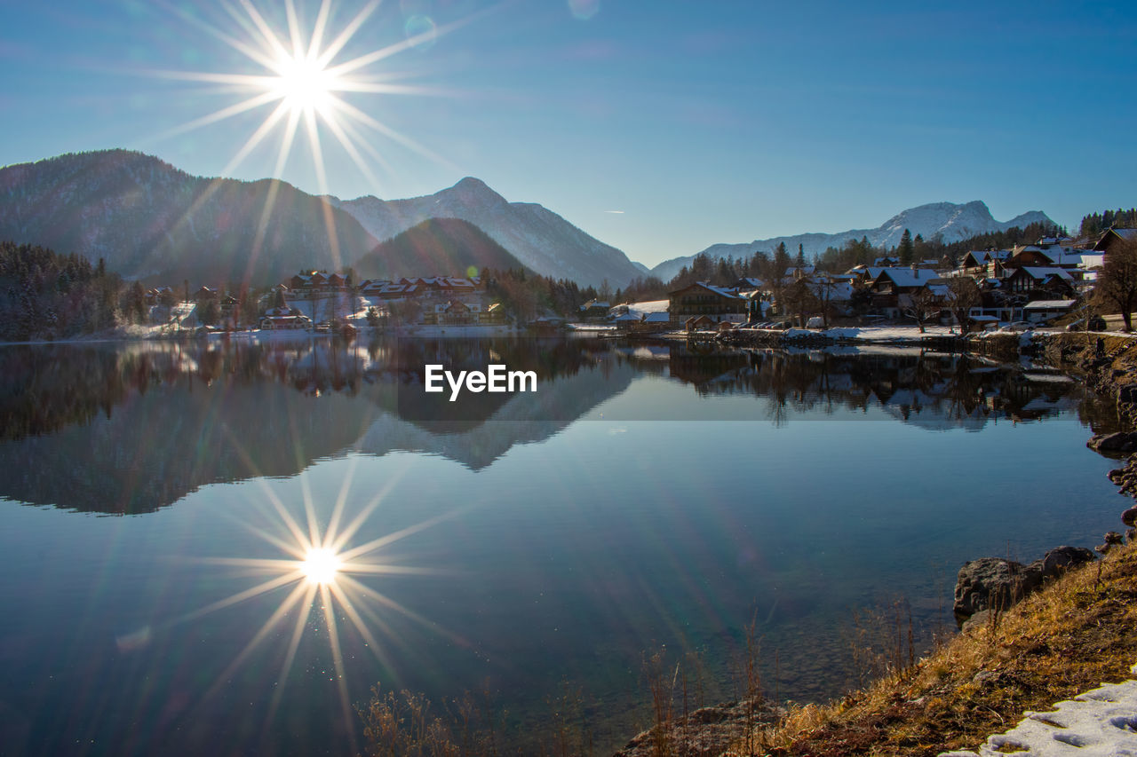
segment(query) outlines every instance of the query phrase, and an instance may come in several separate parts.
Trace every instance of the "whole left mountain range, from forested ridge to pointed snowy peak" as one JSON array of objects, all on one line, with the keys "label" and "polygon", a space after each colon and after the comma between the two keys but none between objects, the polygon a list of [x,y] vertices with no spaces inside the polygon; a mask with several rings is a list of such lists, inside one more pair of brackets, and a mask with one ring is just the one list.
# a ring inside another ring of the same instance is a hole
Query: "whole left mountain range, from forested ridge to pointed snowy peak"
[{"label": "whole left mountain range, from forested ridge to pointed snowy peak", "polygon": [[557,214],[507,202],[470,177],[428,197],[342,201],[276,180],[191,176],[127,150],[0,168],[0,239],[102,258],[110,271],[156,283],[259,285],[301,268],[332,271],[429,218],[472,223],[522,265],[555,278],[615,288],[644,275]]}]

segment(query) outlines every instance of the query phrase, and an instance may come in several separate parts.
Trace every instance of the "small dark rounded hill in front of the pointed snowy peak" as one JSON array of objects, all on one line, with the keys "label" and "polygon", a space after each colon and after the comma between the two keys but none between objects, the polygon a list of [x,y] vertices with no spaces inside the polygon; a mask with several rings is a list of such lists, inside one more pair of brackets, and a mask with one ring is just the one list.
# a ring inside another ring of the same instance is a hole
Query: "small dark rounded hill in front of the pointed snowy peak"
[{"label": "small dark rounded hill in front of the pointed snowy peak", "polygon": [[490,267],[522,268],[521,261],[460,218],[430,218],[362,257],[355,265],[358,278],[375,276],[450,276]]}]

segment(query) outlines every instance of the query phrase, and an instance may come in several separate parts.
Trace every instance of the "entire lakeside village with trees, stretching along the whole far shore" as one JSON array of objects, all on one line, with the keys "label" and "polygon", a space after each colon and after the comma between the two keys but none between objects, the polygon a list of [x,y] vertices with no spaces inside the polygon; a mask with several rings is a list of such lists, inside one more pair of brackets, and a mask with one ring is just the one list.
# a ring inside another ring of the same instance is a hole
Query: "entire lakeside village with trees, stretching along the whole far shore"
[{"label": "entire lakeside village with trees, stretching along the whole far shore", "polygon": [[[254,294],[201,286],[146,292],[148,323],[159,335],[211,332],[325,332],[362,330],[453,335],[529,331],[579,331],[596,335],[723,334],[738,330],[888,326],[923,334],[1023,331],[1061,319],[1063,325],[1107,328],[1092,313],[1090,294],[1105,257],[1137,239],[1135,228],[1105,231],[1076,241],[1046,236],[1012,249],[971,250],[954,263],[902,265],[890,255],[845,273],[820,271],[799,259],[778,278],[740,277],[730,285],[695,282],[666,299],[611,302],[599,298],[578,313],[543,309],[520,317],[479,275],[367,278],[302,271]],[[1080,243],[1079,243],[1080,242]],[[179,298],[179,294],[184,297]],[[1078,317],[1067,317],[1076,314]]]}]

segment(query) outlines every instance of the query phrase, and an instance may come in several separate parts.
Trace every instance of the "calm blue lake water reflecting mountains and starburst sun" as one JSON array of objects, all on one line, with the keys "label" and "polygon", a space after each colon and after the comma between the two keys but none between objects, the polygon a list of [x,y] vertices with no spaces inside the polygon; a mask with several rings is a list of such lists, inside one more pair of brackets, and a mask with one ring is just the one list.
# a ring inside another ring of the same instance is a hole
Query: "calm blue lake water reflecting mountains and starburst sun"
[{"label": "calm blue lake water reflecting mountains and starburst sun", "polygon": [[[428,401],[426,363],[538,391]],[[767,693],[836,696],[866,608],[927,640],[963,561],[1126,506],[1080,384],[918,349],[6,347],[0,382],[5,755],[352,754],[375,684],[521,731],[567,685],[604,754],[661,647],[709,704],[754,619]]]}]

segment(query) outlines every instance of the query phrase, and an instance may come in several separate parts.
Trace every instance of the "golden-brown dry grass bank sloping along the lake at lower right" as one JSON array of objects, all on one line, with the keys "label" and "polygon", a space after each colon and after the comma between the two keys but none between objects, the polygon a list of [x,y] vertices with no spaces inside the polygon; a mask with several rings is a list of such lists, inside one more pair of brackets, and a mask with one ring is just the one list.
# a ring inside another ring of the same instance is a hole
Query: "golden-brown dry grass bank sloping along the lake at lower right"
[{"label": "golden-brown dry grass bank sloping along the lake at lower right", "polygon": [[1137,547],[1072,571],[993,622],[827,707],[802,707],[728,754],[935,755],[976,749],[1137,662]]}]

